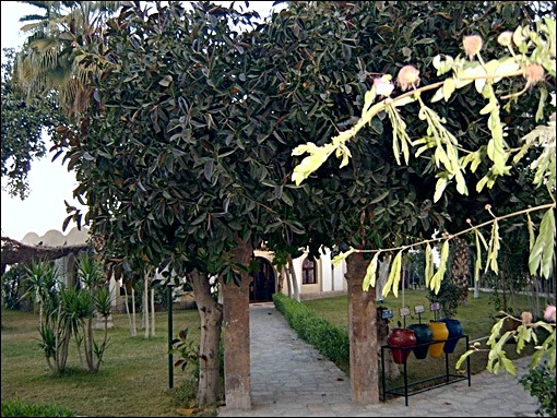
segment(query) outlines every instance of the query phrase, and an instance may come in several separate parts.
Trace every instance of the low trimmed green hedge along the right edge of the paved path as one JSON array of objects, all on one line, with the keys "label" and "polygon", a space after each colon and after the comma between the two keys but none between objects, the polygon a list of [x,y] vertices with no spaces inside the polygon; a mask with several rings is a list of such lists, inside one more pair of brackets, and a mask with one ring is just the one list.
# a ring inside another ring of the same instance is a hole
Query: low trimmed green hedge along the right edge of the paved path
[{"label": "low trimmed green hedge along the right edge of the paved path", "polygon": [[285,295],[274,294],[273,302],[301,339],[334,363],[349,363],[349,339],[346,330],[332,325],[305,304]]}]

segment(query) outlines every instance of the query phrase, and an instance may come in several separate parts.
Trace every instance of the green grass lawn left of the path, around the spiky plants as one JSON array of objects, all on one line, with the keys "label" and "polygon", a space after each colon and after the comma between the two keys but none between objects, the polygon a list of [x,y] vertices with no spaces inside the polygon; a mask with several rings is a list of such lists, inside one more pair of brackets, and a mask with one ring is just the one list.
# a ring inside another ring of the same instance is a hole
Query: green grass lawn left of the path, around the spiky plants
[{"label": "green grass lawn left of the path, around the spiky plants", "polygon": [[[144,337],[143,330],[132,337],[126,314],[112,317],[115,327],[109,331],[99,372],[82,372],[76,353],[71,353],[69,375],[54,377],[38,346],[38,315],[2,311],[2,401],[56,404],[90,417],[177,416],[176,409],[185,406],[180,387],[189,374],[175,368],[169,390],[167,313],[156,313],[151,338]],[[197,310],[175,311],[173,322],[175,336],[189,326],[190,337],[199,341]],[[102,332],[95,332],[100,341]]]}]

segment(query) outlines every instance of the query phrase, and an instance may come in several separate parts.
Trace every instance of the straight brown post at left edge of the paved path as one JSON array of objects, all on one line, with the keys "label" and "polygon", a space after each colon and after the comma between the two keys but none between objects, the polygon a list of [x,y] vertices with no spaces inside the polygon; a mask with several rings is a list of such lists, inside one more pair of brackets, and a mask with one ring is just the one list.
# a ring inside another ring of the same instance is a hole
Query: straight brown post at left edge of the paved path
[{"label": "straight brown post at left edge of the paved path", "polygon": [[[248,265],[252,256],[249,243],[237,239],[238,247],[230,253],[233,261]],[[249,283],[250,275],[241,273],[240,286],[222,283],[224,314],[224,389],[226,408],[249,410],[250,398],[250,341],[249,341]]]}]

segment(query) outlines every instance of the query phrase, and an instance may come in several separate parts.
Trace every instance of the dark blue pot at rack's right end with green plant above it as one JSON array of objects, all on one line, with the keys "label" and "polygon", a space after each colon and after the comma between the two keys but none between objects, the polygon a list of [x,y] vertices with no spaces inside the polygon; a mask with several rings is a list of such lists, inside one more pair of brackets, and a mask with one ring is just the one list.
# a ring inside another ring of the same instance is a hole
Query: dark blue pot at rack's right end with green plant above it
[{"label": "dark blue pot at rack's right end with green plant above it", "polygon": [[457,286],[457,284],[448,278],[445,278],[441,282],[441,287],[437,294],[432,289],[429,289],[427,294],[427,298],[431,303],[439,303],[439,310],[441,311],[442,315],[439,322],[445,323],[449,331],[447,342],[442,347],[442,350],[448,354],[454,351],[454,347],[459,342],[458,337],[462,336],[463,334],[462,324],[459,320],[452,318],[457,313],[461,289],[459,286]]}]

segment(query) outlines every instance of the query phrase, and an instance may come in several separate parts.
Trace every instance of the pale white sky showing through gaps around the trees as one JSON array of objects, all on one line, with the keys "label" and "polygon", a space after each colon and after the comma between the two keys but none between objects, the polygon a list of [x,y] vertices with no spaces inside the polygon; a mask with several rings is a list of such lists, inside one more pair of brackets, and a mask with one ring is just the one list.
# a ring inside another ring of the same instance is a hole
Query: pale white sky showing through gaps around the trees
[{"label": "pale white sky showing through gaps around the trees", "polygon": [[[215,3],[229,3],[215,1]],[[237,2],[244,5],[244,2]],[[254,9],[264,17],[272,9],[273,1],[250,1],[250,9]],[[19,22],[21,16],[33,14],[36,8],[29,4],[21,4],[15,1],[0,1],[1,5],[1,49],[20,48],[25,36],[20,32],[23,25]],[[2,62],[4,60],[2,53]],[[49,141],[47,139],[47,141]],[[47,143],[47,148],[49,147]],[[75,176],[69,172],[62,165],[60,156],[51,162],[51,155],[34,160],[28,174],[29,194],[23,201],[12,198],[5,190],[5,181],[2,179],[1,192],[1,235],[15,240],[21,240],[27,232],[38,236],[45,235],[50,229],[62,230],[63,220],[68,216],[64,200],[76,207],[82,208],[83,215],[86,207],[73,199],[73,190],[78,187]],[[68,234],[75,224],[71,222],[63,234]]]}]

